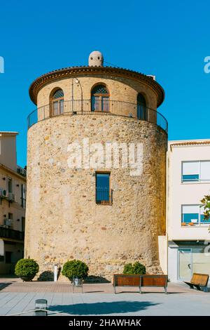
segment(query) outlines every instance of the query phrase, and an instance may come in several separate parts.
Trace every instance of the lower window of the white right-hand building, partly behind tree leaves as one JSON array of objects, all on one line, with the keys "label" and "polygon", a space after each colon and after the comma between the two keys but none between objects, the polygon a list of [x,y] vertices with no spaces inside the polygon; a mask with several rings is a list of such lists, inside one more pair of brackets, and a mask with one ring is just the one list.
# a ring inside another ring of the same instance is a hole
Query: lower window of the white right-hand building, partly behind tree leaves
[{"label": "lower window of the white right-hand building, partly behind tree leaves", "polygon": [[209,225],[209,220],[204,220],[204,207],[200,205],[182,205],[181,225]]}]

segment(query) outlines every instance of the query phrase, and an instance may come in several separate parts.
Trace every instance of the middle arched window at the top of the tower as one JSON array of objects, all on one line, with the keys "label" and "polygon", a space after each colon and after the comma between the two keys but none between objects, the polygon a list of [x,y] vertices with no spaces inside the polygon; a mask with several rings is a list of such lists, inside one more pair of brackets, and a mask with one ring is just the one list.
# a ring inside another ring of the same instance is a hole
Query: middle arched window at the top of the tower
[{"label": "middle arched window at the top of the tower", "polygon": [[91,91],[91,111],[109,111],[109,91],[104,85],[97,85]]}]

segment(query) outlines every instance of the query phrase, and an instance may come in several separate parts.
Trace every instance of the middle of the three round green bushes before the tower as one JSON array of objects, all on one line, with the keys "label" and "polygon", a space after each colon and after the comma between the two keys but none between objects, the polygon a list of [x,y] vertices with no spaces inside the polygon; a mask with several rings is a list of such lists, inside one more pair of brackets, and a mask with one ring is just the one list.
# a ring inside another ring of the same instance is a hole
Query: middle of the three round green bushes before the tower
[{"label": "middle of the three round green bushes before the tower", "polygon": [[87,267],[86,263],[74,259],[71,261],[66,261],[66,263],[64,263],[62,275],[66,276],[71,281],[73,277],[83,279],[87,277],[88,270],[89,268]]}]

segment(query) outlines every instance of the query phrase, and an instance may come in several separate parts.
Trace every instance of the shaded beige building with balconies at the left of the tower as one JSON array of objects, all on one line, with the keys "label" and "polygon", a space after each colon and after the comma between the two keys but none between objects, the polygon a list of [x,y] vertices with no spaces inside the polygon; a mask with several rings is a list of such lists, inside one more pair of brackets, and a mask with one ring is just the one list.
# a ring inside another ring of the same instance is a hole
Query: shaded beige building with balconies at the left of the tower
[{"label": "shaded beige building with balconies at the left of the tower", "polygon": [[0,132],[0,274],[23,258],[26,170],[17,166],[17,132]]}]

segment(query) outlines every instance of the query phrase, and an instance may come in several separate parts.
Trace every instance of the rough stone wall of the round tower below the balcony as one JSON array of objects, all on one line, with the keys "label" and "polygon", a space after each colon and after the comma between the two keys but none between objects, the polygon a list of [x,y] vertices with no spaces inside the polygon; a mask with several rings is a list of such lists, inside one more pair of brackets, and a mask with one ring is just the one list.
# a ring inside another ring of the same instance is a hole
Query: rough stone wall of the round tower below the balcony
[{"label": "rough stone wall of the round tower below the balcony", "polygon": [[[82,144],[83,138],[90,144],[144,145],[141,176],[130,176],[127,168],[111,169],[110,206],[95,202],[95,169],[67,164],[67,146]],[[85,261],[90,275],[107,279],[135,260],[148,273],[161,272],[158,235],[165,235],[166,148],[164,131],[132,118],[59,116],[29,128],[25,258],[37,260],[40,273],[73,258]]]}]

